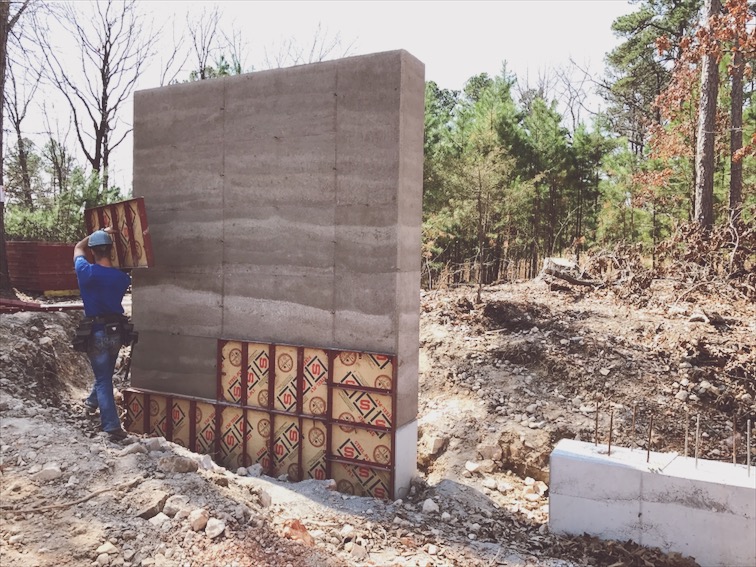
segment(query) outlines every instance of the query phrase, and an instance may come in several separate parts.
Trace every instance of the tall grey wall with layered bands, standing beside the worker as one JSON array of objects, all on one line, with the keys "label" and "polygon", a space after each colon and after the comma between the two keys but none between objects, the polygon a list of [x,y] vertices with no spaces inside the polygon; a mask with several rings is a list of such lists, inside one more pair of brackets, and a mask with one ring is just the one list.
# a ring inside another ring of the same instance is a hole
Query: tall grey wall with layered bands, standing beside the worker
[{"label": "tall grey wall with layered bands, standing beside the worker", "polygon": [[[135,93],[134,185],[156,257],[133,279],[135,388],[287,416],[271,422],[281,442],[332,416],[338,424],[353,398],[391,399],[390,434],[377,421],[360,426],[376,432],[371,440],[383,435],[376,447],[347,436],[348,424],[330,427],[329,472],[341,479],[339,450],[346,463],[371,454],[372,466],[389,446],[389,488],[406,494],[417,444],[424,87],[422,63],[395,51]],[[248,376],[246,388],[229,382],[231,401],[218,390],[220,339],[238,342],[247,365],[265,345],[290,363]],[[340,381],[342,352],[385,353],[391,388]],[[321,358],[330,388],[322,365],[306,362]],[[241,434],[234,411],[216,420],[229,439]],[[304,469],[318,453],[306,443],[301,452]],[[293,464],[271,466],[288,474]]]}]

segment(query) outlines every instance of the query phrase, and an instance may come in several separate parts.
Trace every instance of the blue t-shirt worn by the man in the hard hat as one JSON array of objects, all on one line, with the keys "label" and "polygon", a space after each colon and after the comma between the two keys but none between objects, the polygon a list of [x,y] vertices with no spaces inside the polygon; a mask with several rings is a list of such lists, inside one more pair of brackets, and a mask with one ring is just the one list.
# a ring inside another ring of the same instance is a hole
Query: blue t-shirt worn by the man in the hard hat
[{"label": "blue t-shirt worn by the man in the hard hat", "polygon": [[118,268],[90,264],[84,256],[74,259],[81,300],[87,317],[123,313],[121,301],[131,278]]}]

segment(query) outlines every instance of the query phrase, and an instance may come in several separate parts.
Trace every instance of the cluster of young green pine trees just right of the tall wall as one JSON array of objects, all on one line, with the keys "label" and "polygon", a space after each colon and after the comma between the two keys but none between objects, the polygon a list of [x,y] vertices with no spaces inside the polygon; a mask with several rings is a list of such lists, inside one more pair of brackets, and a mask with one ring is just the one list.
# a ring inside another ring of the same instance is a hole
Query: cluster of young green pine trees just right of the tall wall
[{"label": "cluster of young green pine trees just right of the tall wall", "polygon": [[426,283],[532,273],[544,255],[595,237],[613,144],[599,130],[571,134],[538,91],[517,104],[514,85],[505,67],[472,77],[462,95],[426,86]]}]

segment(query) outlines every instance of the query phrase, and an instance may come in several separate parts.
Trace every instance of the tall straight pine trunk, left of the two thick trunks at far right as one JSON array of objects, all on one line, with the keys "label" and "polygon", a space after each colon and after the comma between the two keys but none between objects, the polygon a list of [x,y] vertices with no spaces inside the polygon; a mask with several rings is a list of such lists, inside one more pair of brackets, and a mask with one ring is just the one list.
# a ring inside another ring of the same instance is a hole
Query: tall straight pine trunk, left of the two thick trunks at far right
[{"label": "tall straight pine trunk, left of the two thick trunks at far right", "polygon": [[[706,24],[719,12],[719,0],[705,1]],[[714,128],[716,127],[719,68],[717,54],[707,52],[701,61],[701,100],[698,106],[696,140],[696,202],[695,220],[709,230],[714,225]]]}]

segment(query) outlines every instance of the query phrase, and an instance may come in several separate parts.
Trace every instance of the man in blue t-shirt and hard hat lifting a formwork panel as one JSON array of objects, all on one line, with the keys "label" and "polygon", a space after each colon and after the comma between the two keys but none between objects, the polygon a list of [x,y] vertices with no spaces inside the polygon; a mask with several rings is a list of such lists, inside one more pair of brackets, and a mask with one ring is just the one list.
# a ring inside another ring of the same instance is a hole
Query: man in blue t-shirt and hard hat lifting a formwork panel
[{"label": "man in blue t-shirt and hard hat lifting a formwork panel", "polygon": [[[131,278],[114,268],[110,260],[114,233],[113,228],[108,227],[85,237],[74,247],[73,260],[86,315],[80,326],[87,331],[81,350],[86,351],[95,377],[84,405],[92,412],[99,408],[102,430],[117,441],[127,434],[121,427],[113,396],[113,372],[123,344],[122,325],[126,321],[121,302]],[[87,248],[94,256],[93,264],[87,260]]]}]

